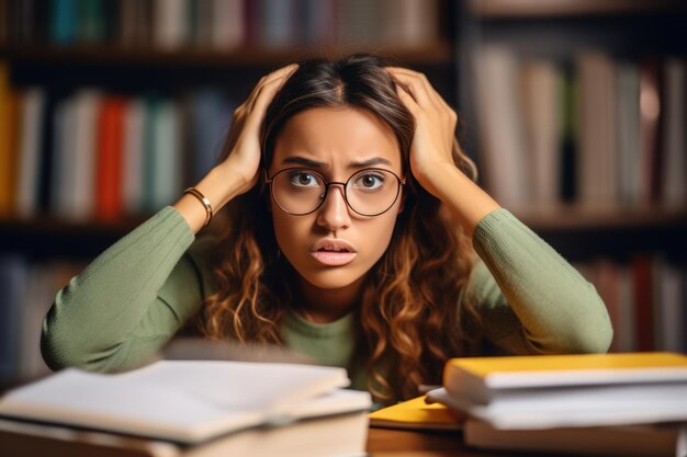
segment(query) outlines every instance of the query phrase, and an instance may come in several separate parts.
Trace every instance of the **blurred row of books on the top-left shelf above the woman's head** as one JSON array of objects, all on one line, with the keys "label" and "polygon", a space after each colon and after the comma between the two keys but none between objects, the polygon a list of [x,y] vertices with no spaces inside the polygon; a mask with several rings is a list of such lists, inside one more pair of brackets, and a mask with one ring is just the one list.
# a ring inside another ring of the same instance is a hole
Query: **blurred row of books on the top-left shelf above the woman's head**
[{"label": "blurred row of books on the top-left shelf above the woman's head", "polygon": [[0,44],[171,50],[437,41],[437,0],[4,0]]}]

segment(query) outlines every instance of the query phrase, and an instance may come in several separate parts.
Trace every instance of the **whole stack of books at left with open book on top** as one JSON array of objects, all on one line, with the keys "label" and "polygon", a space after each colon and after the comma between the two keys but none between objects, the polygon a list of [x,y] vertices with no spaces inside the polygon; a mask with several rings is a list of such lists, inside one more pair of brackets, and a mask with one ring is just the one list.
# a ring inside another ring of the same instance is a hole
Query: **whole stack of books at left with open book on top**
[{"label": "whole stack of books at left with open book on top", "polygon": [[280,363],[161,361],[116,375],[67,369],[0,399],[0,448],[359,456],[371,400],[344,389],[348,384],[341,368]]}]

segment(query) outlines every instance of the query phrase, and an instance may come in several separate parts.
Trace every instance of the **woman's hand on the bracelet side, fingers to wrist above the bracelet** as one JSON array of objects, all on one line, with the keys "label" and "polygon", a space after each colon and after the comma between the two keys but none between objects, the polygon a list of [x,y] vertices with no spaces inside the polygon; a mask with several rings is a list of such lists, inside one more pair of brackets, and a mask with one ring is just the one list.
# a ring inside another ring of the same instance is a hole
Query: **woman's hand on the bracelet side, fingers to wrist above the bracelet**
[{"label": "woman's hand on the bracelet side, fingers to wrist above the bracelet", "polygon": [[228,155],[218,165],[236,186],[230,192],[232,197],[248,192],[258,182],[260,126],[274,94],[296,67],[297,64],[292,64],[263,76],[248,99],[234,111],[232,128],[224,146],[224,155]]}]

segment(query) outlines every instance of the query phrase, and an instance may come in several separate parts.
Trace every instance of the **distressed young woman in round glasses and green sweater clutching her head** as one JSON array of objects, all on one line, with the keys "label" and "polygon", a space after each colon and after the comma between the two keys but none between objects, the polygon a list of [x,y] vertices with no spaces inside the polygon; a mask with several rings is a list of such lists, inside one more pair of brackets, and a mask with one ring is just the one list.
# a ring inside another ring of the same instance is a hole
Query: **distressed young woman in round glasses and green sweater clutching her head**
[{"label": "distressed young woman in round glasses and green sweater clutching her head", "polygon": [[[594,287],[473,182],[455,125],[424,75],[374,56],[263,77],[221,163],[57,294],[45,361],[126,369],[192,323],[392,402],[453,356],[607,351]],[[227,204],[228,232],[195,240]]]}]

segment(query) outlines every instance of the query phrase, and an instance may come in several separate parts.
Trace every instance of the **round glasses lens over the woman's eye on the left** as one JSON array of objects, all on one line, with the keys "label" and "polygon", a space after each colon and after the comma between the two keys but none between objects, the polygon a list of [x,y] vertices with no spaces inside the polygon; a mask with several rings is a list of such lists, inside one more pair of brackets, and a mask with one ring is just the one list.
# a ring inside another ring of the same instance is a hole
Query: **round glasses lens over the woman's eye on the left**
[{"label": "round glasses lens over the woman's eye on the left", "polygon": [[317,208],[324,194],[324,181],[309,170],[284,170],[273,178],[274,202],[286,213],[311,213]]}]

